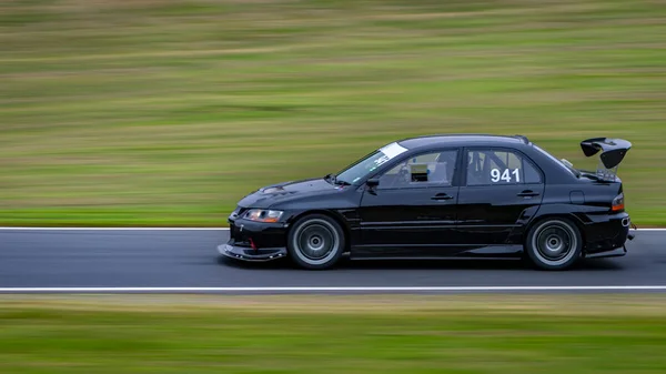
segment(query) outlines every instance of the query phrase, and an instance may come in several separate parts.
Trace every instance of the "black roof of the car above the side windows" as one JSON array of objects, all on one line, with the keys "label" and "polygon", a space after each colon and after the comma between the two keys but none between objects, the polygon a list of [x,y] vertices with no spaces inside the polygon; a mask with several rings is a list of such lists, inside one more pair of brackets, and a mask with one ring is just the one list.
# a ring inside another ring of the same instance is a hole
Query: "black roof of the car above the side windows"
[{"label": "black roof of the car above the side windows", "polygon": [[497,134],[433,134],[398,140],[397,143],[406,149],[440,145],[507,145],[531,144],[524,135],[497,135]]}]

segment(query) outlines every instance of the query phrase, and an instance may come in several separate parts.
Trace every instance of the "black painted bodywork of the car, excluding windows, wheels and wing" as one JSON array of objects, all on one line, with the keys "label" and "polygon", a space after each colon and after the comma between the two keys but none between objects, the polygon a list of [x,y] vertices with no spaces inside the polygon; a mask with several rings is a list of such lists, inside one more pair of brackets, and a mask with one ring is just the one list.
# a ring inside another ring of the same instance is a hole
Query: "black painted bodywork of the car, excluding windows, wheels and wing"
[{"label": "black painted bodywork of the car, excluding windows, wheels and wing", "polygon": [[[287,255],[290,226],[314,212],[343,226],[352,259],[521,257],[529,228],[553,216],[567,218],[581,229],[586,254],[612,252],[627,240],[628,213],[610,209],[623,193],[619,179],[601,182],[576,175],[524,138],[434,135],[398,144],[407,151],[352,185],[315,178],[273,184],[246,195],[229,219],[229,251],[220,252],[235,257],[244,254],[252,261],[269,260],[275,253]],[[535,166],[539,181],[466,185],[466,152],[488,148],[518,152]],[[366,185],[398,162],[438,150],[458,152],[451,185],[393,190]],[[278,223],[258,223],[242,218],[248,209],[284,214]],[[250,239],[256,250],[250,247]]]}]

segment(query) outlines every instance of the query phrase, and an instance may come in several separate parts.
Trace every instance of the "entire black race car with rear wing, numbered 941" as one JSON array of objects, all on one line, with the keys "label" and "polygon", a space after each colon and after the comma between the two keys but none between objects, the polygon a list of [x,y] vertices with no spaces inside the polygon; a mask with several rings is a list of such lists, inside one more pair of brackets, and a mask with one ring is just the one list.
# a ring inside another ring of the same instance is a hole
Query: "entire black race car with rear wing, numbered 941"
[{"label": "entire black race car with rear wing, numbered 941", "polygon": [[629,234],[617,166],[632,144],[596,138],[596,171],[522,135],[396,141],[336,174],[262,188],[229,216],[233,259],[305,269],[351,259],[527,257],[546,270],[622,256]]}]

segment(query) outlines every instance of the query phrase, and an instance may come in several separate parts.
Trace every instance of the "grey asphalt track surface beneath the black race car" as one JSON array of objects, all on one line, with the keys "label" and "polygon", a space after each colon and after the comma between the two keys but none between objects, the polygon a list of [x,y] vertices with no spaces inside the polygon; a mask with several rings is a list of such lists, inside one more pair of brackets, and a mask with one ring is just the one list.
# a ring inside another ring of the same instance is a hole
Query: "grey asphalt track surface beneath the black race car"
[{"label": "grey asphalt track surface beneath the black race car", "polygon": [[349,261],[305,271],[287,260],[222,259],[226,230],[0,230],[0,292],[353,293],[666,292],[666,230],[640,231],[624,257],[564,272],[521,261]]}]

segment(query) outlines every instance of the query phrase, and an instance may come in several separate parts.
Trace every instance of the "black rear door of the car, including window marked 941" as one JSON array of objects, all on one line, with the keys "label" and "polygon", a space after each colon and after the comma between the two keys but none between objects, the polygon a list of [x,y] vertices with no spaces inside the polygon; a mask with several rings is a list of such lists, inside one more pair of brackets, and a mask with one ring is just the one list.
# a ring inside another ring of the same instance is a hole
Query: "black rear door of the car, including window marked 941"
[{"label": "black rear door of the car, including window marked 941", "polygon": [[506,244],[512,231],[541,205],[543,174],[513,149],[466,149],[465,159],[458,233],[467,244]]}]

